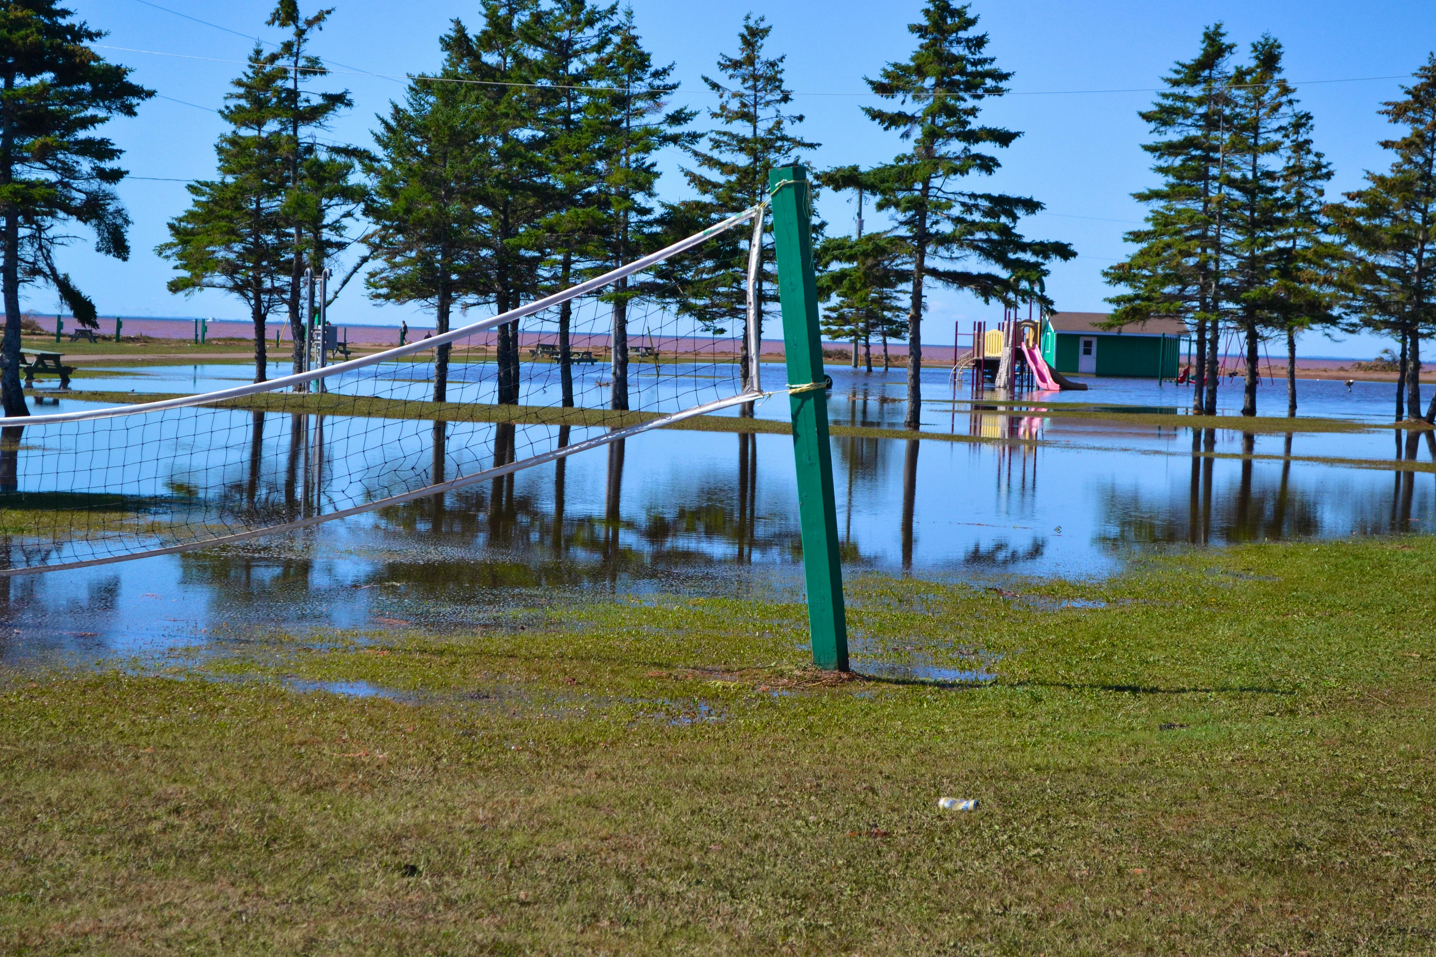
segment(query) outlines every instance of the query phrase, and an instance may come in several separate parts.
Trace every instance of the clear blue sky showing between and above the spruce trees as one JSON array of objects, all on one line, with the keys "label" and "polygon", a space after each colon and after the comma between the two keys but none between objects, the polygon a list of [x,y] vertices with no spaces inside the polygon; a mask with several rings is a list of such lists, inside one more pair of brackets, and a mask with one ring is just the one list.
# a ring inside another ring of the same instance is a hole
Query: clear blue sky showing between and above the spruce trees
[{"label": "clear blue sky showing between and above the spruce trees", "polygon": [[[402,82],[373,75],[402,77],[432,69],[438,36],[449,20],[477,20],[472,3],[329,1],[337,9],[316,52],[335,65],[329,88],[348,88],[356,103],[330,135],[358,143],[369,142],[373,115],[402,92]],[[223,123],[211,110],[243,69],[236,62],[253,46],[237,33],[280,39],[263,26],[271,0],[159,0],[162,7],[234,33],[141,0],[73,0],[72,6],[92,26],[111,32],[101,42],[111,47],[102,50],[108,59],[134,66],[138,82],[169,99],[152,99],[136,119],[108,128],[126,149],[123,162],[136,176],[121,187],[134,218],[134,255],[116,263],[76,245],[66,253],[66,268],[105,314],[243,317],[244,308],[218,293],[169,294],[165,280],[172,273],[154,255],[154,247],[167,238],[165,222],[187,205],[184,184],[168,179],[213,175],[213,143]],[[314,6],[302,3],[302,10]],[[873,102],[864,96],[863,76],[910,52],[906,24],[919,7],[912,0],[757,6],[633,1],[649,49],[658,59],[675,62],[681,96],[696,109],[712,103],[699,76],[714,70],[719,52],[734,47],[742,14],[767,16],[774,27],[770,52],[787,55],[794,108],[807,118],[801,132],[821,143],[808,158],[814,166],[875,164],[898,152],[898,141],[859,109]],[[1111,290],[1101,281],[1101,268],[1123,255],[1122,234],[1142,218],[1130,194],[1152,181],[1139,148],[1146,129],[1136,113],[1150,103],[1152,88],[1170,65],[1192,55],[1205,24],[1225,22],[1242,47],[1264,32],[1284,43],[1288,77],[1301,85],[1302,103],[1315,115],[1317,145],[1335,165],[1333,192],[1354,188],[1364,169],[1389,162],[1376,145],[1389,135],[1376,110],[1381,100],[1399,95],[1400,80],[1370,77],[1407,75],[1436,49],[1436,4],[1429,1],[1008,0],[976,3],[974,11],[991,34],[989,50],[998,65],[1015,73],[1014,95],[992,102],[987,122],[1022,131],[1004,151],[1002,171],[981,185],[1047,204],[1047,212],[1024,224],[1028,235],[1064,240],[1077,248],[1080,257],[1057,265],[1050,280],[1048,288],[1064,310],[1106,310],[1103,300]],[[682,191],[676,158],[668,171],[665,189],[676,195]],[[852,228],[853,208],[843,198],[826,198],[820,211],[831,230]],[[39,291],[29,306],[53,308],[53,294]],[[965,329],[974,319],[992,319],[992,311],[969,297],[939,293],[923,323],[925,339],[952,341],[955,321]],[[419,308],[368,301],[358,281],[330,314],[355,323],[425,321]],[[1311,336],[1301,350],[1370,356],[1384,344],[1371,337],[1331,341]]]}]

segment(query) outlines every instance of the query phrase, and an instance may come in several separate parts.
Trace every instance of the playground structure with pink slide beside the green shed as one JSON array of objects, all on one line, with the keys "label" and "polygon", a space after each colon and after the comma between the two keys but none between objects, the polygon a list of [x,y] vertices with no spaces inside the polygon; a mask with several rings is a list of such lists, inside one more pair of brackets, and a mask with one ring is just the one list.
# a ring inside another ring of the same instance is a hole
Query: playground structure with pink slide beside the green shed
[{"label": "playground structure with pink slide beside the green shed", "polygon": [[[1015,307],[1007,307],[1002,321],[988,329],[987,321],[972,323],[971,333],[962,333],[955,323],[952,330],[954,363],[949,374],[952,396],[966,377],[969,392],[981,397],[988,387],[1008,393],[1057,392],[1061,389],[1086,389],[1087,385],[1067,379],[1047,364],[1041,353],[1043,326],[1035,319],[1018,319]],[[962,340],[968,340],[962,352]]]}]

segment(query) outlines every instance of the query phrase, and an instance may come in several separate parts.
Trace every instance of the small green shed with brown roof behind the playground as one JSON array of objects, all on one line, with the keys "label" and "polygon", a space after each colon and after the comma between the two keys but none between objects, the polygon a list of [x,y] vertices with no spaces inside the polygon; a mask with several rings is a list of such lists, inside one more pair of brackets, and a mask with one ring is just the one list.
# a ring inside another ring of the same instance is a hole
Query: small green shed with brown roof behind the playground
[{"label": "small green shed with brown roof behind the playground", "polygon": [[1043,323],[1043,359],[1070,376],[1176,379],[1190,333],[1176,319],[1100,329],[1107,313],[1053,313]]}]

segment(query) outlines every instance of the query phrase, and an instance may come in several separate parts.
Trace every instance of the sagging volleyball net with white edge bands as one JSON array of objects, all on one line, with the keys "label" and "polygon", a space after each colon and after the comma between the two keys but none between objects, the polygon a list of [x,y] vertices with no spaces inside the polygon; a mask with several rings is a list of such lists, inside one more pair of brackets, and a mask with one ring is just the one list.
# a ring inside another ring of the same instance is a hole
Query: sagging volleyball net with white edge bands
[{"label": "sagging volleyball net with white edge bands", "polygon": [[765,209],[396,349],[141,403],[80,390],[63,396],[75,410],[4,419],[0,575],[306,528],[735,415],[764,395]]}]

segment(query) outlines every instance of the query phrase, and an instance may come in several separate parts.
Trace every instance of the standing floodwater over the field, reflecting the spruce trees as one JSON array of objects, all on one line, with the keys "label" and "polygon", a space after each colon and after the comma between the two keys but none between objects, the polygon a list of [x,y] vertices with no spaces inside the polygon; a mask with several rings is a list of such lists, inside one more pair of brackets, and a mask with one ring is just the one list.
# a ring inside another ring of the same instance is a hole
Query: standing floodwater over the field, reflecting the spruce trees
[{"label": "standing floodwater over the field, reflecting the spruce trees", "polygon": [[[900,370],[830,373],[839,430],[900,428]],[[244,382],[246,367],[90,376],[83,389],[139,396],[225,387]],[[1386,386],[1300,383],[1304,413],[1364,423],[1360,430],[1302,432],[1297,419],[1291,433],[1248,435],[1238,418],[1218,429],[1124,423],[1132,412],[1185,410],[1188,390],[1147,380],[1028,396],[1031,407],[1012,416],[961,390],[954,402],[942,370],[925,379],[931,438],[833,439],[847,575],[1097,578],[1172,550],[1427,534],[1436,524],[1432,436],[1377,425],[1390,419]],[[1262,399],[1284,406],[1284,385],[1264,386]],[[1077,402],[1110,415],[1057,415]],[[85,406],[65,397],[43,407]],[[774,399],[755,415],[781,420],[785,412]],[[270,428],[279,448],[281,426]],[[241,476],[234,488],[257,475],[246,448],[227,452]],[[157,475],[157,486],[165,478]],[[281,481],[269,478],[273,496],[283,496]],[[605,595],[791,597],[800,587],[788,438],[671,429],[299,532],[3,580],[9,636],[0,646],[9,663],[95,660],[215,633],[460,628]],[[864,649],[857,654],[863,661]]]}]

